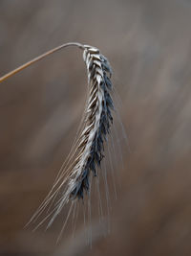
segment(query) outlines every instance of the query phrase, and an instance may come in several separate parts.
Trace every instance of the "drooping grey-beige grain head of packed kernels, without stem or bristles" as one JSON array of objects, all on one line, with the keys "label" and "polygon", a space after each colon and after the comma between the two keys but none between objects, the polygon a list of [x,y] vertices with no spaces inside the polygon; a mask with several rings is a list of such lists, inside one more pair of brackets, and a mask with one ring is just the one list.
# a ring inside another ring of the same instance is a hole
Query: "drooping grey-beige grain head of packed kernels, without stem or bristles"
[{"label": "drooping grey-beige grain head of packed kernels, without stem or bristles", "polygon": [[89,191],[90,173],[97,175],[96,166],[100,165],[103,158],[103,143],[113,123],[110,64],[95,47],[89,45],[84,47],[83,58],[87,67],[90,93],[86,109],[86,125],[80,136],[77,162],[70,176],[68,198],[83,198],[84,191]]}]

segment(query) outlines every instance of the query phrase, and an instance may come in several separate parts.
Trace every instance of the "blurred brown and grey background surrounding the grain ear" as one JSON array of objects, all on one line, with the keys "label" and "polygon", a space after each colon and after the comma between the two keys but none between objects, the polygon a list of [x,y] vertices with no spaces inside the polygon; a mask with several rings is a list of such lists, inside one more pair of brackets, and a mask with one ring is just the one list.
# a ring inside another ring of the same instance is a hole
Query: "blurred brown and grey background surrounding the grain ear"
[{"label": "blurred brown and grey background surrounding the grain ear", "polygon": [[57,245],[62,218],[24,229],[80,122],[82,53],[65,49],[2,82],[0,255],[191,255],[190,24],[189,0],[0,1],[0,76],[64,42],[95,45],[115,71],[130,147],[118,135],[111,232],[95,219],[92,249],[80,220]]}]

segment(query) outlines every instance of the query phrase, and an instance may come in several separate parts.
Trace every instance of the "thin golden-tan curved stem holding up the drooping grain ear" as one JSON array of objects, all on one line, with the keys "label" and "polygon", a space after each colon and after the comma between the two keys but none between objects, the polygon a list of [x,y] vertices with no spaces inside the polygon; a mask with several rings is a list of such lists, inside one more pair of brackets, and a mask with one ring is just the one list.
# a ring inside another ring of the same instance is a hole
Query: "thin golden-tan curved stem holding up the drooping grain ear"
[{"label": "thin golden-tan curved stem holding up the drooping grain ear", "polygon": [[23,69],[25,69],[25,68],[27,68],[27,67],[29,67],[29,66],[31,66],[33,63],[35,63],[35,62],[41,60],[42,58],[46,58],[46,57],[52,55],[53,53],[55,53],[55,52],[57,52],[57,51],[59,51],[59,50],[65,48],[65,47],[68,47],[68,46],[77,46],[77,47],[79,47],[80,49],[83,49],[83,50],[84,50],[83,44],[80,44],[80,43],[77,43],[77,42],[64,43],[64,44],[59,45],[59,46],[53,48],[52,50],[50,50],[50,51],[48,51],[48,52],[46,52],[46,53],[44,53],[44,54],[42,54],[42,55],[40,55],[40,56],[38,56],[38,57],[36,57],[36,58],[33,58],[32,60],[26,62],[25,64],[23,64],[23,65],[21,65],[21,66],[15,68],[14,70],[12,70],[11,72],[9,72],[8,74],[6,74],[6,75],[4,75],[3,77],[1,77],[1,78],[0,78],[0,82],[5,81],[5,80],[11,78],[11,76],[13,76],[14,74],[16,74],[16,73],[22,71]]}]

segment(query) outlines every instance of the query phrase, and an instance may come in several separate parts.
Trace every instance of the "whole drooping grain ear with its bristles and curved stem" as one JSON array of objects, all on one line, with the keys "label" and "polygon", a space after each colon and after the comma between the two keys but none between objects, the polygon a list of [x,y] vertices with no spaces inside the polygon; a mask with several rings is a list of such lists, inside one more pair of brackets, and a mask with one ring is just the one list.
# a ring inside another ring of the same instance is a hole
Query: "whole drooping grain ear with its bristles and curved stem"
[{"label": "whole drooping grain ear with its bristles and curved stem", "polygon": [[[61,197],[57,200],[51,212],[53,214],[51,223],[65,203],[76,198],[84,198],[84,193],[88,193],[90,190],[90,175],[98,175],[97,167],[100,166],[104,156],[104,141],[107,140],[107,134],[113,124],[111,110],[114,105],[110,95],[112,91],[112,82],[110,80],[112,69],[110,63],[107,58],[100,54],[96,47],[79,43],[67,43],[32,59],[0,78],[0,82],[5,81],[34,62],[67,46],[77,46],[83,50],[83,59],[87,67],[89,93],[82,129],[74,143],[74,149],[55,179],[50,194],[32,217],[32,220],[37,218],[47,205],[57,197],[57,194],[62,191]],[[62,189],[64,185],[66,187]]]}]

